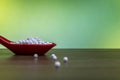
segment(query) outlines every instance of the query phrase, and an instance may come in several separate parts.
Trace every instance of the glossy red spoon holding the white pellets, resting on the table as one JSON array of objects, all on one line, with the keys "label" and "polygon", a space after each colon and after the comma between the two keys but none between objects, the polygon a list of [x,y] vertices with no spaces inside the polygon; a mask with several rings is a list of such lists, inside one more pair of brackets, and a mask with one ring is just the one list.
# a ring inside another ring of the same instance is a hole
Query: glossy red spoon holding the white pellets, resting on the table
[{"label": "glossy red spoon holding the white pellets, resting on the table", "polygon": [[3,36],[0,36],[0,44],[14,52],[16,55],[34,55],[35,53],[38,55],[44,55],[51,48],[56,46],[55,43],[52,44],[17,44],[13,43],[6,39]]}]

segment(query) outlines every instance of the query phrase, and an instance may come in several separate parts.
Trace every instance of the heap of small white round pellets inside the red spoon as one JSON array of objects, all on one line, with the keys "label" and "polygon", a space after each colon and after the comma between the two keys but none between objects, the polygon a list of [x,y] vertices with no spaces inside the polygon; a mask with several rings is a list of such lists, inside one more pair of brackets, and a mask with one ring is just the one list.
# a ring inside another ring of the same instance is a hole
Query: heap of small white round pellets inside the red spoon
[{"label": "heap of small white round pellets inside the red spoon", "polygon": [[16,44],[52,44],[51,42],[45,42],[38,37],[35,37],[35,38],[29,37],[25,40],[19,40],[14,43],[16,43]]}]

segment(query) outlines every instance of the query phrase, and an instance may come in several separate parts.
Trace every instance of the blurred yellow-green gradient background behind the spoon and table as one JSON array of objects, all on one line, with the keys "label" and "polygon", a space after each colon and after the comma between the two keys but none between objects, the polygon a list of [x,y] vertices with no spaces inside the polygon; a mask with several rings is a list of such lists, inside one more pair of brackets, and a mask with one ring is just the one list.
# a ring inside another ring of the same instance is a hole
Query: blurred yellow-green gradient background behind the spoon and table
[{"label": "blurred yellow-green gradient background behind the spoon and table", "polygon": [[120,0],[0,0],[0,35],[40,37],[55,48],[120,48]]}]

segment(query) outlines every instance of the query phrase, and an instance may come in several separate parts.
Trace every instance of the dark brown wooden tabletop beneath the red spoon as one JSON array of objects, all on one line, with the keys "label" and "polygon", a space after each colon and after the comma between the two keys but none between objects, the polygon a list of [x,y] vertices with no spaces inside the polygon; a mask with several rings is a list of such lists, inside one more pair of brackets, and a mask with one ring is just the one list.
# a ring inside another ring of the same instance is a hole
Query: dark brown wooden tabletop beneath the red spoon
[{"label": "dark brown wooden tabletop beneath the red spoon", "polygon": [[[61,62],[54,67],[51,54]],[[62,58],[69,61],[64,63]],[[0,49],[0,80],[120,80],[119,49],[52,49],[46,56],[15,56]]]}]

